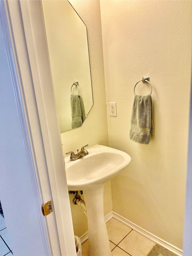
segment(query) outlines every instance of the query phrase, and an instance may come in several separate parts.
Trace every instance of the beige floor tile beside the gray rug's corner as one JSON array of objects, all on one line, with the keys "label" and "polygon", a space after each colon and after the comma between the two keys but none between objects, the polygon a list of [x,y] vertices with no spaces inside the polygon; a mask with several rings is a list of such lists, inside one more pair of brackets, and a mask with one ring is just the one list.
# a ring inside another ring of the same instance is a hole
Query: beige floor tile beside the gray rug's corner
[{"label": "beige floor tile beside the gray rug's corner", "polygon": [[118,246],[132,256],[146,256],[154,245],[154,242],[132,230]]}]

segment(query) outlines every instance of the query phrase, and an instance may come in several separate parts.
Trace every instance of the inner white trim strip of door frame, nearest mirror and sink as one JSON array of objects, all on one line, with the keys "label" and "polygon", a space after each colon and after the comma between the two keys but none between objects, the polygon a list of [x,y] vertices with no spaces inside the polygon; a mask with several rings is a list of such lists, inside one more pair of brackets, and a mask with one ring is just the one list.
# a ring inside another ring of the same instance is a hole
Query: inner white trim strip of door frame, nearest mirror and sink
[{"label": "inner white trim strip of door frame, nearest mirror and sink", "polygon": [[[19,3],[44,142],[61,255],[76,255],[42,5],[41,1],[19,1]],[[41,175],[41,172],[39,175],[43,188],[46,185],[44,175]],[[54,237],[52,237],[52,241],[54,241]],[[52,242],[52,246],[54,245],[55,243]]]}]

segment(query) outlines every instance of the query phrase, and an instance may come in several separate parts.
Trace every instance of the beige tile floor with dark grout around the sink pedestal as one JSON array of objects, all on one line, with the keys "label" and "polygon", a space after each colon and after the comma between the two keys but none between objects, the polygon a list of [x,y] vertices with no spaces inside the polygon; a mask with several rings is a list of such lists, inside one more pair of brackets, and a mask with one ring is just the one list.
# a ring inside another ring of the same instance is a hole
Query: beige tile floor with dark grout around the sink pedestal
[{"label": "beige tile floor with dark grout around the sink pedestal", "polygon": [[[107,231],[113,256],[146,256],[154,242],[116,220],[107,222]],[[88,256],[88,240],[82,244],[82,256]]]}]

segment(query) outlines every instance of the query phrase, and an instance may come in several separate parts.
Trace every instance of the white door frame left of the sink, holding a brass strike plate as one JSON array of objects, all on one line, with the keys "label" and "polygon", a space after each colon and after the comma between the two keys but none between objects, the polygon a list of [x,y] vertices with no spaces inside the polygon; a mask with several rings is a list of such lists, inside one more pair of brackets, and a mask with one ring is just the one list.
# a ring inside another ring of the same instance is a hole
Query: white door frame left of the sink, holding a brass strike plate
[{"label": "white door frame left of the sink, holding a brass strike plate", "polygon": [[40,216],[46,229],[47,251],[76,255],[41,1],[4,1],[2,14],[5,30],[5,19],[8,23],[6,50],[15,64],[10,63],[10,70],[17,80],[14,91],[23,138],[28,142],[26,153],[35,167],[30,169],[34,191],[41,203],[53,203],[53,213]]}]

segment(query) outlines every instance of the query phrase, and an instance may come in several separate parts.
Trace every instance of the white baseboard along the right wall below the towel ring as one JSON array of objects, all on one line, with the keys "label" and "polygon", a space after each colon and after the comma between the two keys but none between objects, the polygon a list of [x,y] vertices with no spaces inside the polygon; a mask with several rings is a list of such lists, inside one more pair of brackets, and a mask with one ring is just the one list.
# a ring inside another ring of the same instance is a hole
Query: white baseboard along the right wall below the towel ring
[{"label": "white baseboard along the right wall below the towel ring", "polygon": [[163,248],[175,253],[178,256],[183,255],[183,251],[174,245],[164,241],[163,239],[159,238],[158,236],[153,235],[152,233],[148,232],[147,230],[143,229],[142,227],[134,224],[133,222],[129,221],[128,219],[122,217],[116,212],[113,212],[113,218],[117,219],[118,221],[122,222],[126,226],[132,228],[133,230],[137,231],[141,235],[145,236],[146,238],[150,239],[151,241],[155,242],[156,244],[161,245]]}]

